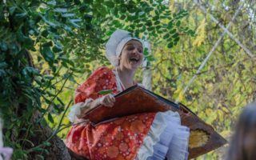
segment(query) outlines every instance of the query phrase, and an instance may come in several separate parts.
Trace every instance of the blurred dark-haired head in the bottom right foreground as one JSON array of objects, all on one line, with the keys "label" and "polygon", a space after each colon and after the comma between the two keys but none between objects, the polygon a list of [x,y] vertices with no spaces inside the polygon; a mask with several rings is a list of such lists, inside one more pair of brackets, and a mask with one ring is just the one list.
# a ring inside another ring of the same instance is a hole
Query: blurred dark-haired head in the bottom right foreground
[{"label": "blurred dark-haired head in the bottom right foreground", "polygon": [[227,160],[256,158],[256,102],[246,106],[238,119]]}]

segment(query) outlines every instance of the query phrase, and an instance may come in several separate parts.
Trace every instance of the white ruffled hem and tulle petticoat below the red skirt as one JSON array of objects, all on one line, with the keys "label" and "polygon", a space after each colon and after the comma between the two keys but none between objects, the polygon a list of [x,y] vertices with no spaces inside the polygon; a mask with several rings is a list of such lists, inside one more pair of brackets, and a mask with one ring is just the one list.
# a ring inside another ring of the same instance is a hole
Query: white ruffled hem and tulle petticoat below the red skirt
[{"label": "white ruffled hem and tulle petticoat below the red skirt", "polygon": [[177,112],[166,111],[155,115],[150,132],[138,150],[136,160],[186,160],[190,129],[181,126]]}]

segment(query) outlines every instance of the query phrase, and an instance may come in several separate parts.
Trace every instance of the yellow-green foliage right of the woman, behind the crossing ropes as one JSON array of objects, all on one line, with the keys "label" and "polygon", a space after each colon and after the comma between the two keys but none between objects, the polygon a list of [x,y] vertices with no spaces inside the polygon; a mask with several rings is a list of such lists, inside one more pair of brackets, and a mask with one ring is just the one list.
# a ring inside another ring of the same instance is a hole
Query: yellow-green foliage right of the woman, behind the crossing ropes
[{"label": "yellow-green foliage right of the woman, behind the crossing ropes", "polygon": [[[178,45],[171,50],[166,47],[166,44],[168,45],[166,42],[151,47],[155,58],[152,62],[154,92],[172,100],[178,98],[229,140],[242,108],[256,100],[255,60],[248,57],[245,51],[226,35],[195,81],[186,93],[182,94],[182,90],[196,74],[198,67],[223,32],[210,19],[209,14],[218,19],[222,25],[226,25],[242,2],[234,4],[232,1],[226,1],[226,3],[230,4],[223,5],[221,1],[204,1],[208,14],[203,14],[198,6],[194,6],[194,1],[170,2],[170,10],[176,12],[183,8],[188,11],[186,23],[189,27],[196,28],[196,37],[181,36]],[[250,10],[255,10],[255,5],[246,2],[242,14],[238,14],[229,30],[252,53],[255,53],[251,42],[256,42],[256,27],[252,24],[254,20],[251,19],[252,15],[250,17]],[[223,146],[196,159],[224,159],[226,149],[227,146]]]}]

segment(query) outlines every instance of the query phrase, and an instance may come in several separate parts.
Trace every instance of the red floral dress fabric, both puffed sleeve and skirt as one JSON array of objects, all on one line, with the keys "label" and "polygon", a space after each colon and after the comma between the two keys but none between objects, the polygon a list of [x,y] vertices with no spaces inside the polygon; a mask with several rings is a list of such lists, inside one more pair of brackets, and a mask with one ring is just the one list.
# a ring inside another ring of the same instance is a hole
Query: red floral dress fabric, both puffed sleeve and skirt
[{"label": "red floral dress fabric, both puffed sleeve and skirt", "polygon": [[[101,67],[75,91],[75,103],[86,98],[100,98],[101,90],[113,90],[117,94],[115,74]],[[155,113],[134,114],[115,119],[98,126],[90,122],[73,126],[66,138],[66,146],[75,154],[88,159],[134,159],[150,130]]]}]

